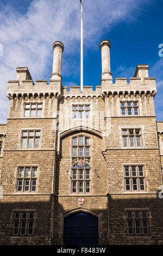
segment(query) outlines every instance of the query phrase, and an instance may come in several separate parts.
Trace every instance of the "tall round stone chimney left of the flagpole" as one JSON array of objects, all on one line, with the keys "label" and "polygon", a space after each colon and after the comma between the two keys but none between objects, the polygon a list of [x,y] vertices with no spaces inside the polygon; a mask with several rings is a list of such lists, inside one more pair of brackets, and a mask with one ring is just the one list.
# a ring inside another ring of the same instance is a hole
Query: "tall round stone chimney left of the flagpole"
[{"label": "tall round stone chimney left of the flagpole", "polygon": [[55,41],[53,44],[53,74],[51,80],[61,81],[61,65],[62,65],[62,52],[64,45],[60,41]]}]

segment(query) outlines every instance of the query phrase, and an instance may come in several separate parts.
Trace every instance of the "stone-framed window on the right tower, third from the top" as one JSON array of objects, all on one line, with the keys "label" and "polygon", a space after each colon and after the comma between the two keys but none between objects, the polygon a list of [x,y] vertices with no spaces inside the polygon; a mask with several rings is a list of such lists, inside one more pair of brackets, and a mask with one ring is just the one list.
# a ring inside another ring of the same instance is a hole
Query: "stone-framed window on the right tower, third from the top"
[{"label": "stone-framed window on the right tower, third from the top", "polygon": [[125,191],[146,191],[145,166],[124,166]]}]

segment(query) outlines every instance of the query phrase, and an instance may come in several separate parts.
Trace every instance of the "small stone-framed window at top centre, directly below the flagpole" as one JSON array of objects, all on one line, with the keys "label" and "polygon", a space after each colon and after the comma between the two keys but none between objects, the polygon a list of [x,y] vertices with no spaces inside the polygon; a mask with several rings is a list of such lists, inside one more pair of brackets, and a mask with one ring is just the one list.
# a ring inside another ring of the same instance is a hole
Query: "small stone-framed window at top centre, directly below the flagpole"
[{"label": "small stone-framed window at top centre, directly below the flagpole", "polygon": [[90,105],[89,104],[72,105],[72,118],[73,119],[90,118]]}]

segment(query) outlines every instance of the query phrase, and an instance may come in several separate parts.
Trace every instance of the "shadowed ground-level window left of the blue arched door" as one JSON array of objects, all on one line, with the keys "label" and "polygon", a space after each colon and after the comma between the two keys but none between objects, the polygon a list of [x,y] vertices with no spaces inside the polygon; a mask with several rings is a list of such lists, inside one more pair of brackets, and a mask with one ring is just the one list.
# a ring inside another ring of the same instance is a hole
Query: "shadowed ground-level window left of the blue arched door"
[{"label": "shadowed ground-level window left of the blue arched door", "polygon": [[34,211],[14,211],[12,214],[12,235],[32,236],[34,234]]}]

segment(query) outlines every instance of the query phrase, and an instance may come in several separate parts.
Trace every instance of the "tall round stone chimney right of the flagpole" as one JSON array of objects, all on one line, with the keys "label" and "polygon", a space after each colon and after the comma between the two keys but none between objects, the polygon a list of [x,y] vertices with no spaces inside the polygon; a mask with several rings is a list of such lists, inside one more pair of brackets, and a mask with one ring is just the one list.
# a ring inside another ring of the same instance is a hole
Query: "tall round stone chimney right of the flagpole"
[{"label": "tall round stone chimney right of the flagpole", "polygon": [[112,74],[110,71],[110,45],[111,44],[108,40],[103,40],[100,43],[100,50],[102,55],[102,80],[112,78]]}]

